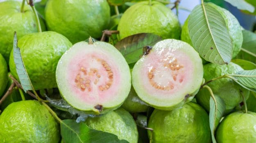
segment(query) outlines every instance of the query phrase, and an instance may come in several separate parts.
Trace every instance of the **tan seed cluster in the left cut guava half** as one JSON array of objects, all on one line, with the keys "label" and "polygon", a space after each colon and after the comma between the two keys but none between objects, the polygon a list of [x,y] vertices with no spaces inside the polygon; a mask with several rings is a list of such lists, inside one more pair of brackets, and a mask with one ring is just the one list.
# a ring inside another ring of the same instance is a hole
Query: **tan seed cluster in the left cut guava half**
[{"label": "tan seed cluster in the left cut guava half", "polygon": [[[100,89],[100,91],[104,91],[109,89],[113,83],[113,71],[105,60],[97,59],[97,61],[100,62],[101,65],[104,67],[109,78],[109,80],[104,85],[98,86],[98,89]],[[95,80],[93,81],[93,83],[91,83],[91,80],[88,79],[92,76],[95,76]],[[98,73],[97,68],[91,68],[89,71],[87,71],[84,67],[81,67],[75,78],[75,83],[77,87],[81,89],[81,91],[85,91],[86,89],[88,89],[88,92],[91,92],[91,84],[97,85],[100,77],[101,75]]]}]

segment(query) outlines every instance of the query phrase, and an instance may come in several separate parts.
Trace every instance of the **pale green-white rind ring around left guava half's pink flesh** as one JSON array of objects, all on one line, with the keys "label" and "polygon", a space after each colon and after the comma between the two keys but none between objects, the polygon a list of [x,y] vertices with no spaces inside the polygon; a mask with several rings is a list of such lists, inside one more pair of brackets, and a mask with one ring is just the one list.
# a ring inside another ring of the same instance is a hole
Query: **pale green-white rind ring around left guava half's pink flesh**
[{"label": "pale green-white rind ring around left guava half's pink flesh", "polygon": [[[68,88],[70,81],[68,80],[67,73],[63,71],[69,70],[68,64],[70,63],[70,61],[72,61],[74,55],[76,55],[77,53],[87,53],[90,51],[104,52],[107,55],[111,55],[111,58],[113,58],[112,60],[116,62],[116,66],[118,66],[118,69],[120,69],[120,81],[122,81],[122,84],[120,84],[119,87],[116,87],[118,88],[119,94],[113,95],[113,97],[118,96],[118,98],[113,98],[112,101],[106,101],[104,103],[95,102],[90,104],[74,98],[74,93],[71,91],[71,89]],[[104,114],[106,112],[117,109],[125,101],[131,88],[131,74],[125,58],[115,47],[113,47],[113,45],[106,42],[93,42],[92,45],[88,45],[87,42],[82,41],[73,45],[68,51],[66,51],[65,54],[63,54],[63,56],[59,60],[56,69],[56,81],[59,91],[61,92],[61,96],[72,107],[89,114]],[[100,112],[95,109],[95,106],[98,104],[102,105],[102,111]]]}]

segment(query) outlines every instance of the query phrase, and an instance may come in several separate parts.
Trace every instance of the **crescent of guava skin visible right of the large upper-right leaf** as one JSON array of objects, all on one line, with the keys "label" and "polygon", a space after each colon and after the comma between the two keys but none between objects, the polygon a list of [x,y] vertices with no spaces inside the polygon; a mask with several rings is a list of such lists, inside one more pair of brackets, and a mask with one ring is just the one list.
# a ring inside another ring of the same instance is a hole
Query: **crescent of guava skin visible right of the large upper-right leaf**
[{"label": "crescent of guava skin visible right of the large upper-right leaf", "polygon": [[214,7],[219,13],[222,15],[226,22],[226,27],[229,32],[229,36],[232,42],[233,47],[233,56],[232,58],[235,58],[236,55],[240,52],[242,47],[242,29],[241,26],[233,14],[231,14],[228,10],[223,9],[222,7],[219,7],[213,3],[208,3],[212,7]]}]

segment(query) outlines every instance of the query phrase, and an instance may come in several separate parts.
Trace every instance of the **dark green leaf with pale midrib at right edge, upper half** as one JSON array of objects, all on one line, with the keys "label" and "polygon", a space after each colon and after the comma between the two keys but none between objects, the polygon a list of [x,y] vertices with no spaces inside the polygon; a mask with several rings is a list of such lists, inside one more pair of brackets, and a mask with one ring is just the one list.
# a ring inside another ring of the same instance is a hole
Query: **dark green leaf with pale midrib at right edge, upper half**
[{"label": "dark green leaf with pale midrib at right edge, upper half", "polygon": [[237,58],[256,63],[256,34],[248,30],[242,30],[242,35],[242,49]]}]

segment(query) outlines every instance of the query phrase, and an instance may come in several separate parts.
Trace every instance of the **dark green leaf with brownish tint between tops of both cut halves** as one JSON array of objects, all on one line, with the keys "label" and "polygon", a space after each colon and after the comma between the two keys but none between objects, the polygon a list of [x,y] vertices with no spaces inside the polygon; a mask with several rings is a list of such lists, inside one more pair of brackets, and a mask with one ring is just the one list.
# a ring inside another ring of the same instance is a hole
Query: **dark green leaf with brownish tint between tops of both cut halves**
[{"label": "dark green leaf with brownish tint between tops of both cut halves", "polygon": [[125,57],[128,64],[137,62],[143,55],[144,46],[153,46],[162,40],[160,36],[150,33],[140,33],[123,38],[115,47]]}]

